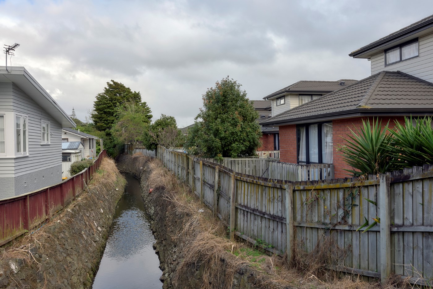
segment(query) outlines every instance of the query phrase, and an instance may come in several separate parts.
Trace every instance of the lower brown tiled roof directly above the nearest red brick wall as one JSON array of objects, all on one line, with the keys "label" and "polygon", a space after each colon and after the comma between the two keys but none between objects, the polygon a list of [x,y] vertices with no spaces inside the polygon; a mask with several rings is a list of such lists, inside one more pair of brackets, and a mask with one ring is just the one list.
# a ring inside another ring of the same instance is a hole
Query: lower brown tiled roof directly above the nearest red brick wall
[{"label": "lower brown tiled roof directly above the nearest red brick wall", "polygon": [[261,125],[327,121],[360,115],[433,112],[433,83],[403,72],[383,71],[283,112]]}]

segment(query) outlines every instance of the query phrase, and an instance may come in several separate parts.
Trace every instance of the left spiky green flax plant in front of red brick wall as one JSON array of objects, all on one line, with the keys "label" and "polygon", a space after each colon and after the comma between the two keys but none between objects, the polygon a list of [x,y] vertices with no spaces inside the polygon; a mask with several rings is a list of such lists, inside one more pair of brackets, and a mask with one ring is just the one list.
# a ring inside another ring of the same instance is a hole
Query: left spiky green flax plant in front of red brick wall
[{"label": "left spiky green flax plant in front of red brick wall", "polygon": [[347,144],[339,151],[352,170],[346,170],[353,175],[379,174],[397,170],[401,167],[398,159],[393,157],[392,135],[388,133],[388,124],[382,128],[378,119],[362,120],[362,128],[350,129],[351,135],[344,138]]}]

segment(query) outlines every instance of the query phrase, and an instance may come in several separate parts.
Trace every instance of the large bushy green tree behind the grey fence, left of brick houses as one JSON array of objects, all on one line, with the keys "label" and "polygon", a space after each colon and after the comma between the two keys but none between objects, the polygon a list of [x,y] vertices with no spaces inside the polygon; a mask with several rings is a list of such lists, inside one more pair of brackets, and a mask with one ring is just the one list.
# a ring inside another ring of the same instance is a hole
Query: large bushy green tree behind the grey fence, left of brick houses
[{"label": "large bushy green tree behind the grey fence, left of brick houses", "polygon": [[196,125],[188,132],[191,153],[207,158],[255,155],[262,136],[259,115],[240,87],[227,76],[207,89]]}]

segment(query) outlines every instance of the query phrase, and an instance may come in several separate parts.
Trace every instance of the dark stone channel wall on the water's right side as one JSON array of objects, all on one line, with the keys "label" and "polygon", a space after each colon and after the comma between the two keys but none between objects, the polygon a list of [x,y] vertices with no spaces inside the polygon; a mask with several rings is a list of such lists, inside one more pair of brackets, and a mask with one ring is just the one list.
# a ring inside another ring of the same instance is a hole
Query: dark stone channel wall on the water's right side
[{"label": "dark stone channel wall on the water's right side", "polygon": [[[129,155],[121,155],[117,158],[117,164],[121,171],[135,175],[140,179],[142,187],[142,196],[145,202],[147,212],[151,217],[151,228],[154,232],[156,242],[154,248],[159,255],[160,268],[163,271],[161,281],[163,282],[163,289],[171,288],[221,288],[216,284],[204,285],[203,273],[206,271],[204,263],[197,259],[195,263],[191,263],[185,274],[182,274],[177,282],[174,284],[176,270],[179,268],[181,261],[184,259],[184,248],[186,247],[187,240],[179,236],[179,232],[184,227],[184,222],[187,221],[187,216],[184,213],[179,213],[176,210],[176,204],[167,200],[164,187],[154,188],[152,193],[149,194],[148,177],[150,169],[146,163],[148,157],[131,157]],[[231,254],[227,254],[228,258],[236,258]],[[206,256],[203,258],[206,259]],[[214,272],[213,278],[224,280],[226,275],[226,260],[220,259],[220,266],[218,272]],[[271,288],[263,281],[263,276],[260,276],[257,271],[249,266],[242,266],[234,274],[233,281],[229,286],[224,284],[224,288],[233,289],[251,289],[251,288]],[[287,287],[280,287],[287,288]]]}]

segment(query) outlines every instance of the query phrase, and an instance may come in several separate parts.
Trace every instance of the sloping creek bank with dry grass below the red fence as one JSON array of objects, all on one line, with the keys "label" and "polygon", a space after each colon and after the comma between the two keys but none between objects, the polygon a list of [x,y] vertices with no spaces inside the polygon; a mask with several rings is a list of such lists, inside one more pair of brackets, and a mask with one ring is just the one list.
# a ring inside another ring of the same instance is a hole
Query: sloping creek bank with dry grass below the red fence
[{"label": "sloping creek bank with dry grass below the red fence", "polygon": [[124,186],[113,161],[105,158],[77,200],[5,248],[0,288],[90,288]]}]

